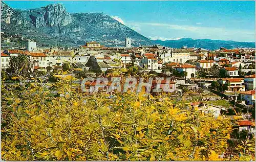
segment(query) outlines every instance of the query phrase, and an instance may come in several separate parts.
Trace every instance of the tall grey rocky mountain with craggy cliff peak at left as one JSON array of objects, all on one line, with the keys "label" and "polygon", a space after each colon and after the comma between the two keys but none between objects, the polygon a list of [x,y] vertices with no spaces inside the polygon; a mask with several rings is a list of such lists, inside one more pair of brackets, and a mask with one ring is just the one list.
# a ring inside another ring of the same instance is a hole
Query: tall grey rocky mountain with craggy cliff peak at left
[{"label": "tall grey rocky mountain with craggy cliff peak at left", "polygon": [[[104,13],[70,14],[62,4],[52,4],[29,10],[13,10],[4,4],[3,8],[5,16],[2,18],[6,19],[6,14],[11,12],[12,19],[16,18],[16,24],[14,27],[7,23],[8,20],[4,20],[5,24],[2,29],[7,32],[26,33],[31,37],[36,36],[38,39],[44,39],[44,44],[48,41],[51,44],[50,39],[57,39],[60,41],[58,43],[65,40],[65,42],[73,44],[84,44],[84,41],[96,40],[107,46],[120,46],[124,45],[126,37],[134,39],[133,45],[136,46],[152,44],[150,39]],[[18,22],[18,20],[22,21]],[[23,21],[30,26],[24,28]],[[77,41],[78,37],[79,41]]]}]

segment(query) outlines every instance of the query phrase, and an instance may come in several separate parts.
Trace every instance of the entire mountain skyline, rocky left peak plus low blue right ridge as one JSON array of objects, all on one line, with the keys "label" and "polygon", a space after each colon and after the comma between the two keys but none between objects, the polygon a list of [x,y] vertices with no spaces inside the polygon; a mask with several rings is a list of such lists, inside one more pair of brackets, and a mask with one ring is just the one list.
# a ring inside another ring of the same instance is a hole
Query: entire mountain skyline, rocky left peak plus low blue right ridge
[{"label": "entire mountain skyline, rocky left peak plus low blue right ridge", "polygon": [[68,13],[62,4],[37,9],[12,9],[2,4],[2,31],[33,38],[43,46],[78,46],[86,41],[98,41],[107,47],[124,46],[126,37],[132,45],[161,44],[166,47],[183,46],[209,50],[255,47],[252,42],[183,38],[179,40],[151,40],[104,13]]}]

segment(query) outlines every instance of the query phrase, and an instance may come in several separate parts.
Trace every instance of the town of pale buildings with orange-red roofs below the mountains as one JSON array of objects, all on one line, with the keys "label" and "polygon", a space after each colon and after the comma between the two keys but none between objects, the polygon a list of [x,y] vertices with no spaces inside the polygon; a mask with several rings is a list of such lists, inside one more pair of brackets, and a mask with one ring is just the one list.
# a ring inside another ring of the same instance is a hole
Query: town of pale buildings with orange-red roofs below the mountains
[{"label": "town of pale buildings with orange-red roofs below the mountains", "polygon": [[[35,41],[28,39],[27,47],[22,49],[2,47],[2,78],[10,76],[5,83],[12,83],[11,77],[20,67],[17,65],[19,56],[29,60],[28,76],[39,77],[45,82],[55,82],[56,75],[70,72],[71,66],[74,70],[69,74],[77,78],[102,77],[121,67],[132,67],[132,75],[137,76],[146,73],[172,77],[170,84],[176,88],[172,98],[177,103],[185,99],[190,106],[214,111],[216,117],[224,112],[234,114],[233,109],[237,109],[244,120],[240,127],[255,132],[255,49],[210,51],[187,47],[174,49],[159,44],[132,47],[130,38],[125,39],[124,47],[104,47],[92,41],[73,49],[39,48]],[[94,85],[87,83],[87,86]]]}]

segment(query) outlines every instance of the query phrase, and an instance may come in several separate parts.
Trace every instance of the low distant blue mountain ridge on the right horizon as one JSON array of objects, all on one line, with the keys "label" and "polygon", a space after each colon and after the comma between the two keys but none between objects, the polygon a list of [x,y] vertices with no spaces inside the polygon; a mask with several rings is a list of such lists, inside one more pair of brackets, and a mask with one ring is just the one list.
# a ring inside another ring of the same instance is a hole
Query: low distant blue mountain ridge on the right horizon
[{"label": "low distant blue mountain ridge on the right horizon", "polygon": [[211,40],[211,39],[191,39],[191,38],[181,38],[179,40],[154,40],[156,44],[161,44],[166,47],[172,48],[182,48],[186,46],[188,48],[203,48],[207,50],[217,50],[220,47],[226,49],[233,48],[255,48],[254,42],[238,42],[231,40]]}]

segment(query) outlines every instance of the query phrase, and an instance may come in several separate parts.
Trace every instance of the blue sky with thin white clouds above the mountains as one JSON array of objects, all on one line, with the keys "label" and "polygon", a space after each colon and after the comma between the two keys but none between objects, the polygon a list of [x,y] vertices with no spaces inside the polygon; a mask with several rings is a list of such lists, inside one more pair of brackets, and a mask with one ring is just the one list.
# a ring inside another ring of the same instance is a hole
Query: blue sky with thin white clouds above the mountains
[{"label": "blue sky with thin white clouds above the mountains", "polygon": [[6,2],[32,9],[62,3],[68,12],[104,12],[151,39],[255,41],[255,2]]}]

